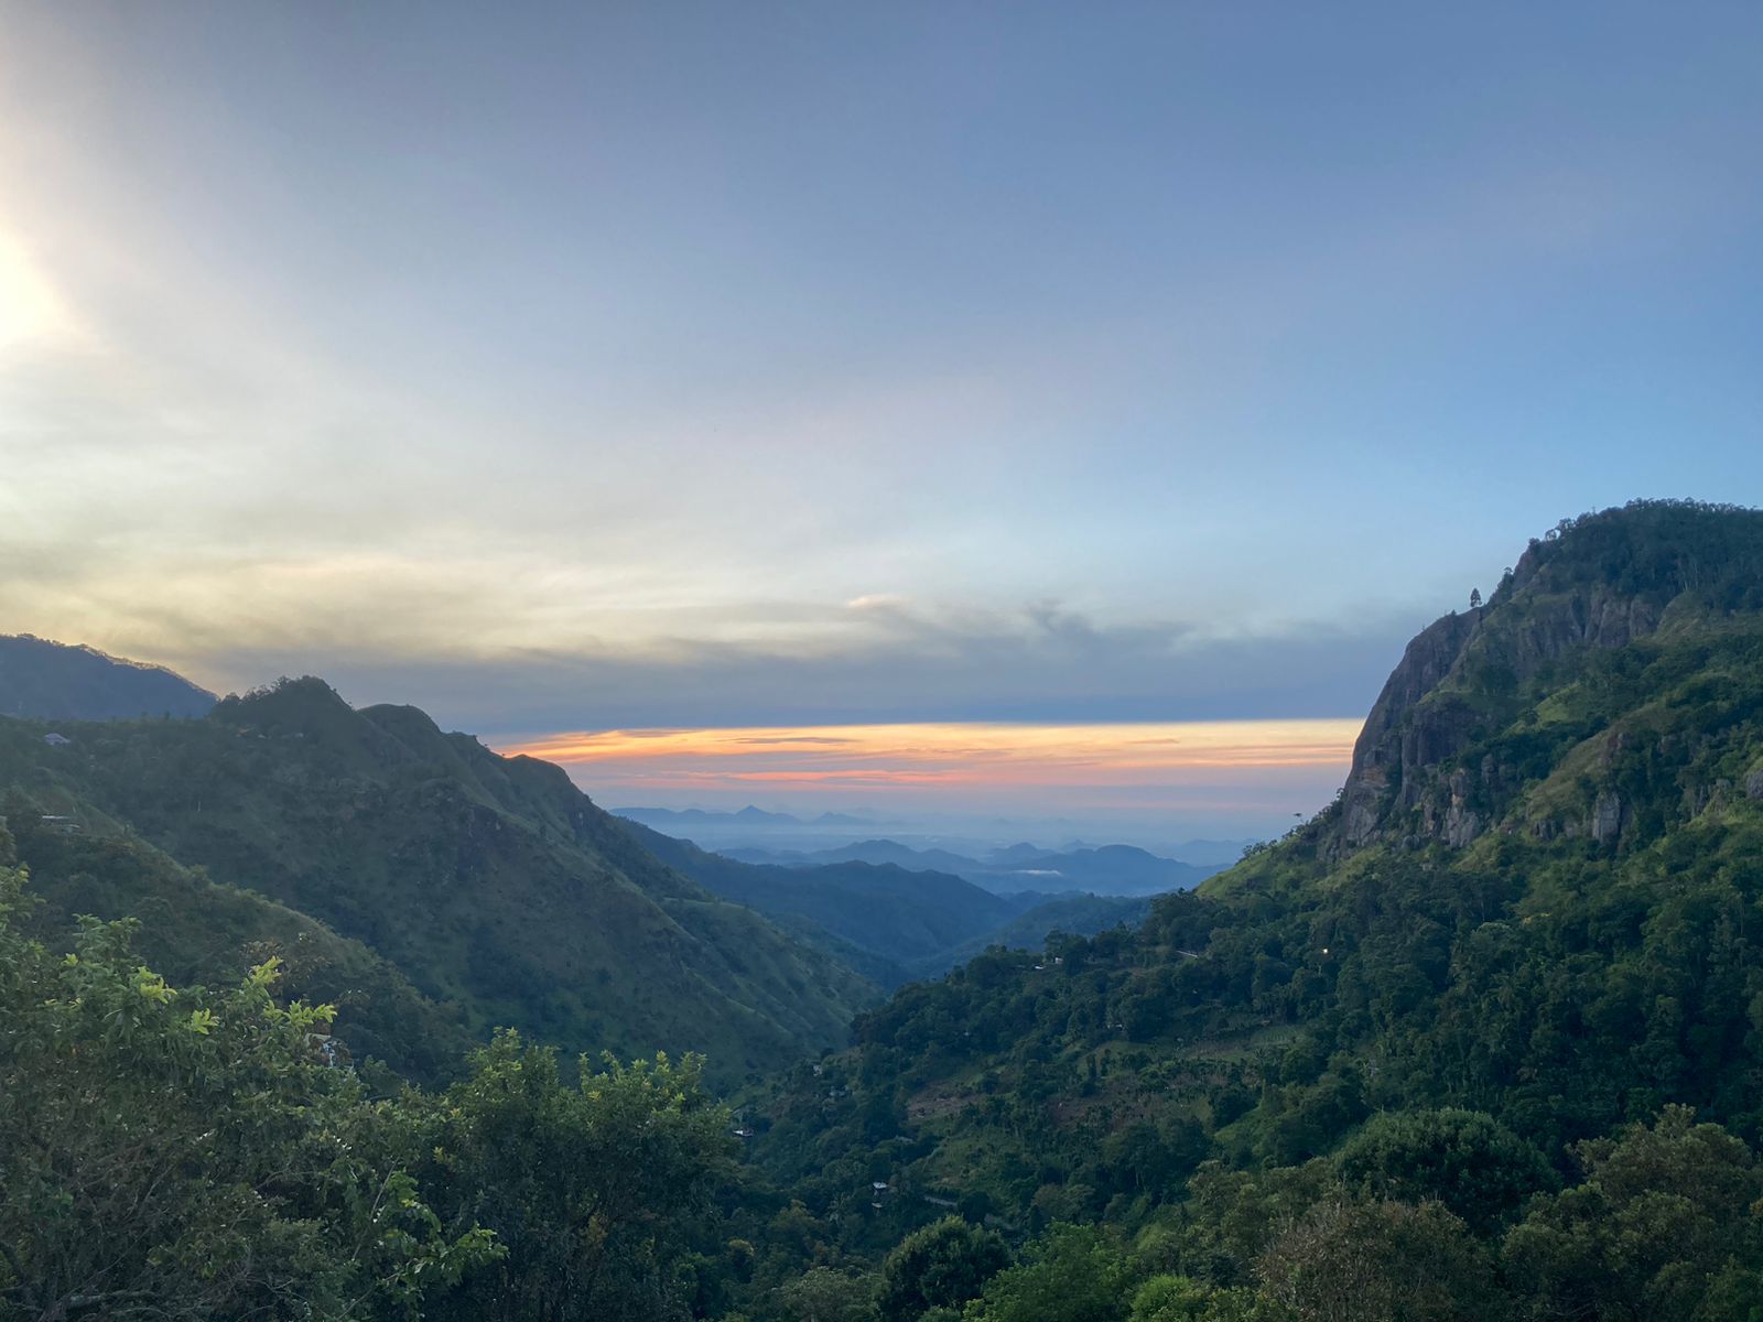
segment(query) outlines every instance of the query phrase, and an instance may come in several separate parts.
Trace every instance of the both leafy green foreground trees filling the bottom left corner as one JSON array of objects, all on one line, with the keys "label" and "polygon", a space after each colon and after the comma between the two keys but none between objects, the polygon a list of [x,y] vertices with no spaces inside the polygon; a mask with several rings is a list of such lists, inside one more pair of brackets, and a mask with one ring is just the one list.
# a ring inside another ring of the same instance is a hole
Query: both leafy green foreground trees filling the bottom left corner
[{"label": "both leafy green foreground trees filling the bottom left corner", "polygon": [[374,1100],[275,961],[176,989],[129,920],[56,954],[25,881],[0,867],[0,1318],[686,1315],[730,1177],[696,1059],[566,1084],[504,1035],[446,1093]]}]

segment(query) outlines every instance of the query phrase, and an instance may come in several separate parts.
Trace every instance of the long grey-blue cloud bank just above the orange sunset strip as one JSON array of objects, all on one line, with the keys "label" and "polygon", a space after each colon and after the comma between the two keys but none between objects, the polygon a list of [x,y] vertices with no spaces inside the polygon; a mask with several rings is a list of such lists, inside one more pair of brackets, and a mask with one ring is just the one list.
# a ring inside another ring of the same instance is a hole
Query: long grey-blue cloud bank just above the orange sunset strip
[{"label": "long grey-blue cloud bank just above the orange sunset strip", "polygon": [[[843,606],[779,615],[788,628],[755,629],[756,642],[670,635],[645,647],[425,652],[312,636],[268,649],[215,645],[189,659],[199,661],[197,679],[222,689],[321,673],[351,702],[409,702],[451,728],[508,740],[758,723],[1352,717],[1368,710],[1425,622],[1366,613],[1358,628],[1216,636],[1188,622],[1104,624],[1074,612],[1058,612],[1049,628],[1044,606],[901,610],[855,628]],[[363,629],[374,636],[365,615]]]}]

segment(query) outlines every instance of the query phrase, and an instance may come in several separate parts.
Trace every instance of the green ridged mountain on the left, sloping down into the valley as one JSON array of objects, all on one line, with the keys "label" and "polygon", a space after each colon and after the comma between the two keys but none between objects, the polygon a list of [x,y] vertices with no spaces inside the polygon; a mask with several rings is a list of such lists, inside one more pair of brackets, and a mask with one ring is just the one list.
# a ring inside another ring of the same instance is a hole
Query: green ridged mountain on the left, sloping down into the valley
[{"label": "green ridged mountain on the left, sloping down into the valley", "polygon": [[465,1026],[718,1077],[846,1040],[869,984],[645,853],[554,765],[319,680],[194,721],[0,723],[0,784],[361,941]]}]

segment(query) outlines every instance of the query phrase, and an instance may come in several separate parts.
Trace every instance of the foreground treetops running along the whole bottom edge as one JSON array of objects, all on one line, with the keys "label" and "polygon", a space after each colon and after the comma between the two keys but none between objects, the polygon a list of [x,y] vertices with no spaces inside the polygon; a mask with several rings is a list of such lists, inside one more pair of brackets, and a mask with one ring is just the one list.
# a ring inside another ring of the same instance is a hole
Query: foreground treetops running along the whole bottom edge
[{"label": "foreground treetops running along the whole bottom edge", "polygon": [[1137,1229],[945,1216],[866,1251],[733,1163],[695,1059],[569,1082],[506,1033],[376,1100],[273,962],[180,991],[130,922],[56,954],[28,904],[0,869],[7,1322],[1763,1318],[1763,1165],[1687,1107],[1576,1142],[1566,1179],[1486,1114],[1389,1112],[1298,1165],[1204,1160]]}]

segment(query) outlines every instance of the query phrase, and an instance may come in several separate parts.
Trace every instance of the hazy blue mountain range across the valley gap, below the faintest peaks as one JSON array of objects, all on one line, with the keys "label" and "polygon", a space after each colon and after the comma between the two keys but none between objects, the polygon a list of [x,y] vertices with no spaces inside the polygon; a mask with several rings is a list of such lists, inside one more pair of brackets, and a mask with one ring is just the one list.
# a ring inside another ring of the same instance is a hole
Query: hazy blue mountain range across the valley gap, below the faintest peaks
[{"label": "hazy blue mountain range across the valley gap, below the faintest peaks", "polygon": [[723,850],[728,858],[746,864],[774,864],[781,867],[823,867],[829,864],[876,864],[901,867],[908,873],[947,873],[973,883],[994,895],[1033,892],[1063,895],[1084,892],[1091,895],[1160,895],[1169,890],[1192,890],[1222,864],[1188,864],[1162,858],[1132,844],[1104,844],[1082,850],[1042,850],[1033,844],[1012,844],[993,850],[984,858],[971,858],[948,850],[913,850],[890,839],[857,841],[834,850]]}]

